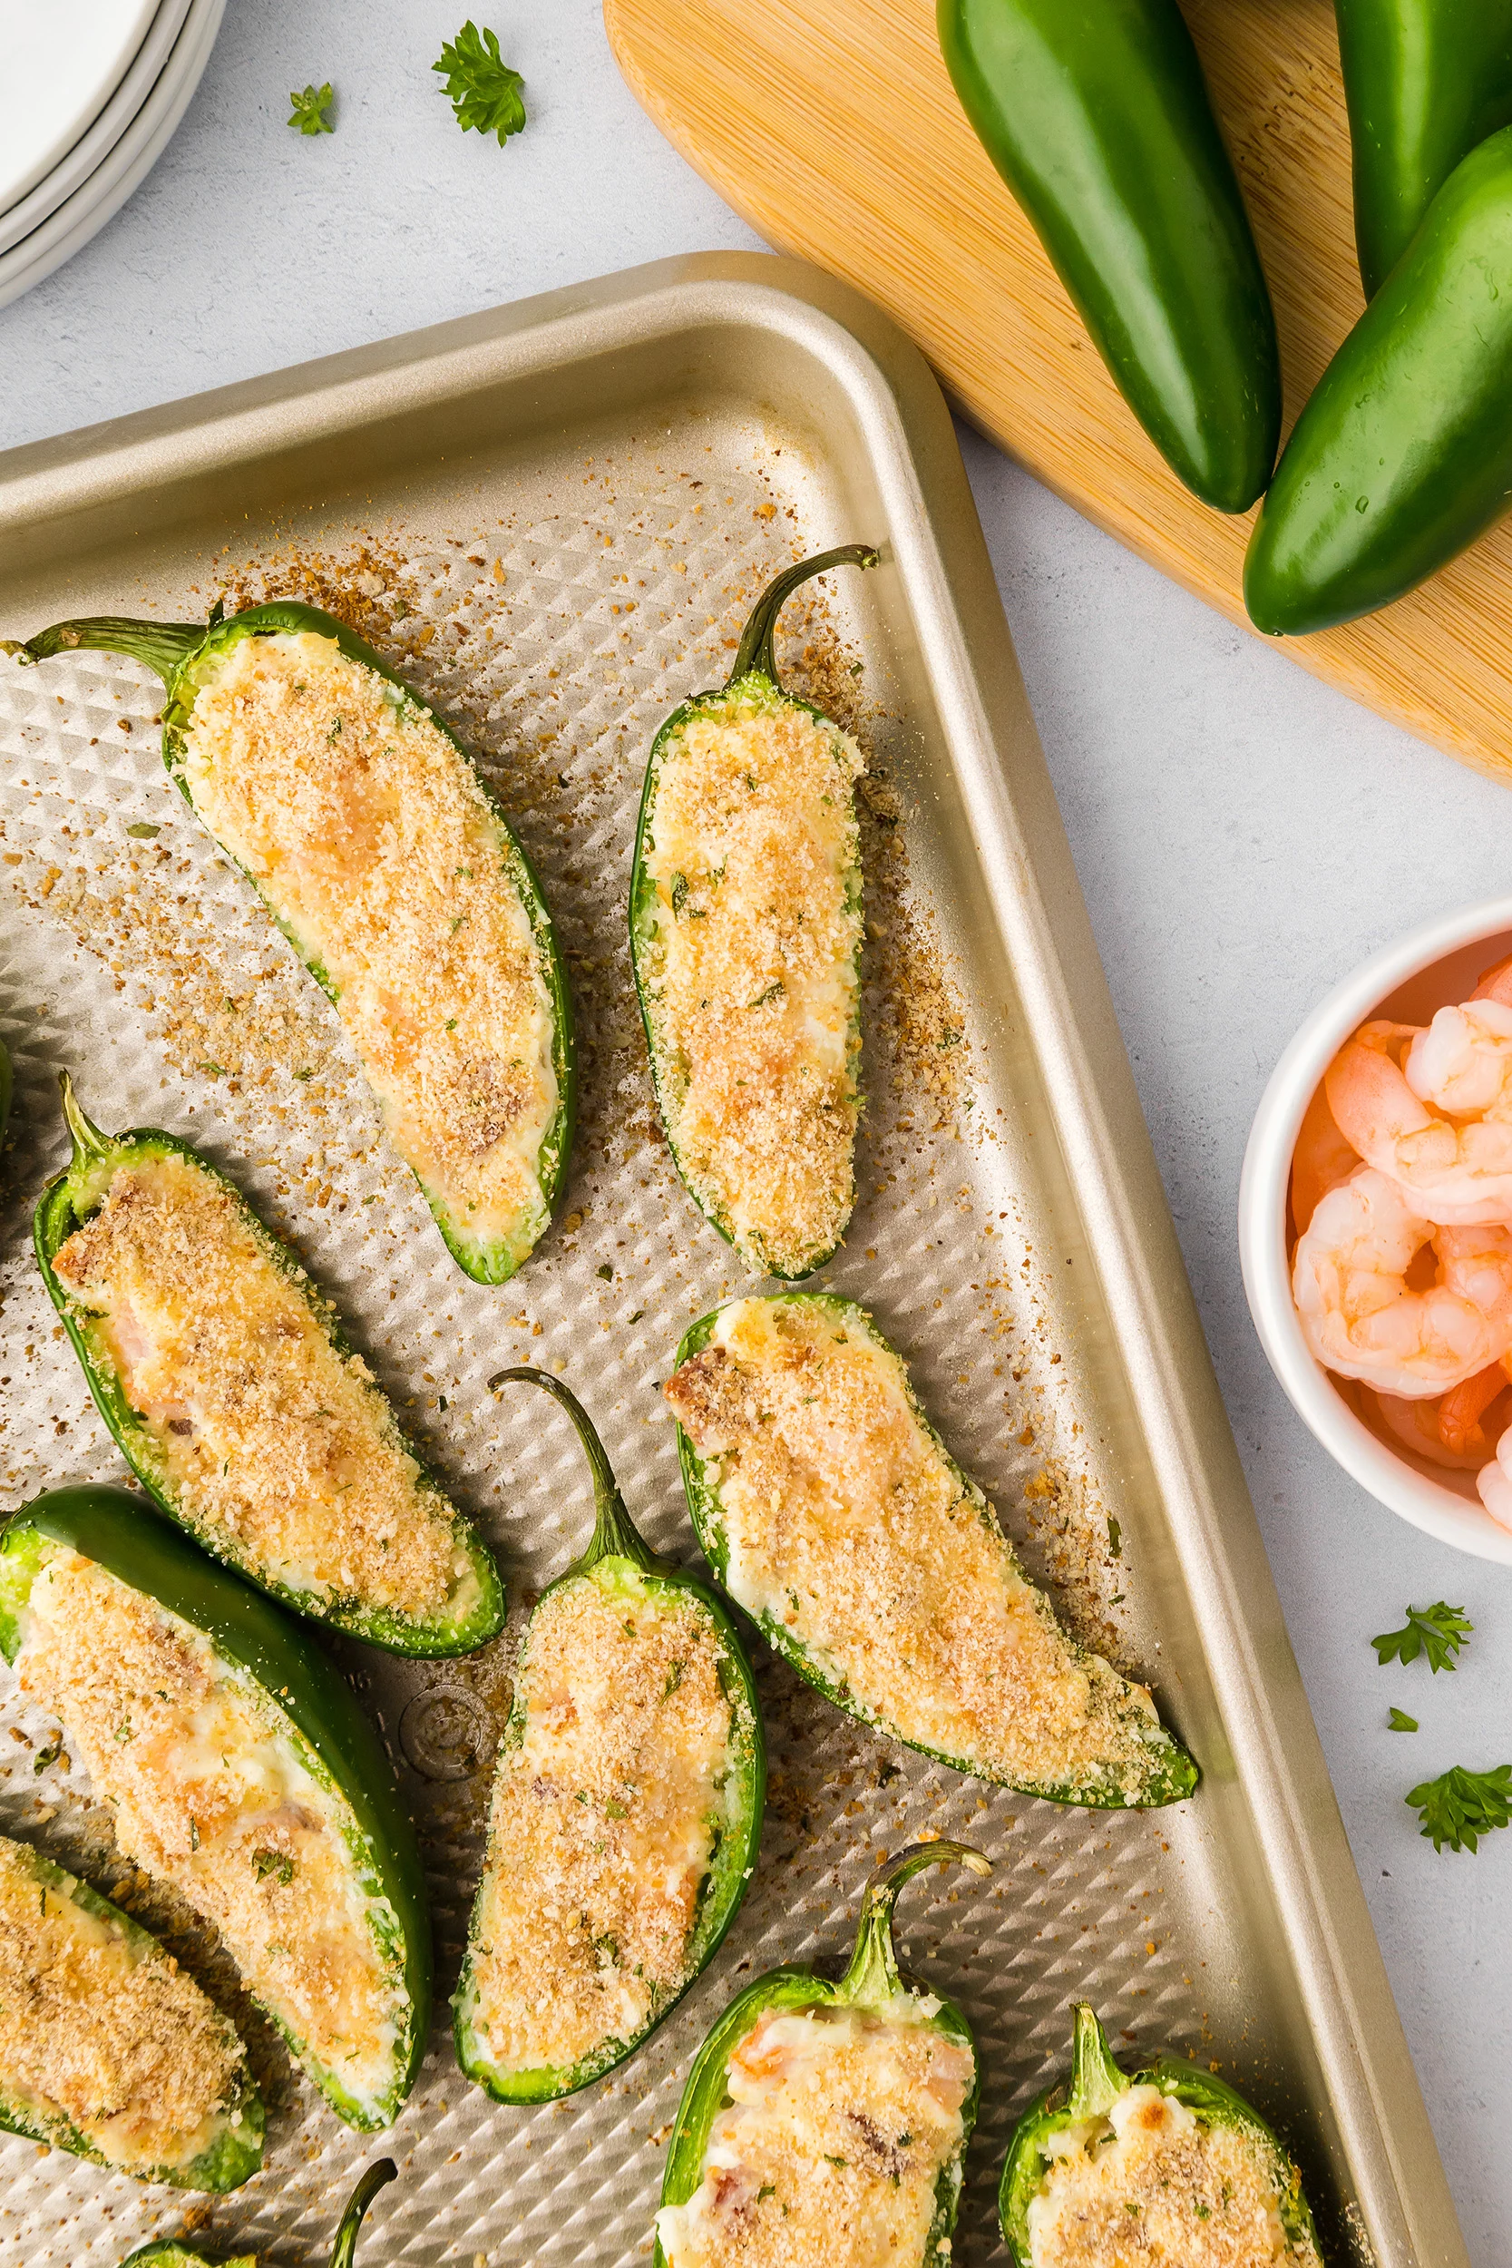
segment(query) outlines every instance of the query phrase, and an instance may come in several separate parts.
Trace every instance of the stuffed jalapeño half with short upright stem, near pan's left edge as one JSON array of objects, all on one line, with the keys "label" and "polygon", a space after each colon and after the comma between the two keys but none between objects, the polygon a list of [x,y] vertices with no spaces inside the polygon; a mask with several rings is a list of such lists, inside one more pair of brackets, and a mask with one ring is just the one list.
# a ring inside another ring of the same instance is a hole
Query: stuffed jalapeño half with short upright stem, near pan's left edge
[{"label": "stuffed jalape\u00f1o half with short upright stem, near pan's left edge", "polygon": [[494,1637],[492,1554],[288,1245],[188,1143],[107,1136],[61,1086],[73,1159],[36,1207],[36,1261],[143,1488],[274,1599],[374,1647]]}]

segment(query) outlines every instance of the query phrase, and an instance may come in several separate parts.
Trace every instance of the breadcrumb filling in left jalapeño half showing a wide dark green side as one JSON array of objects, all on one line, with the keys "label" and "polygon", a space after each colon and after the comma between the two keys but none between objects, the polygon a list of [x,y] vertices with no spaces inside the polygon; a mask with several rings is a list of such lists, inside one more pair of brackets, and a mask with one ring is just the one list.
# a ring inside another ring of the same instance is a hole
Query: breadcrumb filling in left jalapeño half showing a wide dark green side
[{"label": "breadcrumb filling in left jalape\u00f1o half showing a wide dark green side", "polygon": [[363,1887],[356,1819],[281,1710],[202,1631],[66,1549],[32,1583],[16,1672],[127,1857],[215,1923],[301,2062],[381,2100],[406,2014],[397,1916]]}]

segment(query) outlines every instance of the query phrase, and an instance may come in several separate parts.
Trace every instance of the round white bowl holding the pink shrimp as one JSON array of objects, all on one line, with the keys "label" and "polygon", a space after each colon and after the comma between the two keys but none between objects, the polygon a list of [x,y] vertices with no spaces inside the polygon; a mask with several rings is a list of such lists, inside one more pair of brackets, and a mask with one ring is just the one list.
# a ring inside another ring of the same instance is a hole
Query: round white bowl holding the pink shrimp
[{"label": "round white bowl holding the pink shrimp", "polygon": [[1469,1000],[1480,973],[1510,953],[1512,898],[1467,905],[1376,953],[1313,1009],[1276,1064],[1249,1129],[1240,1177],[1240,1263],[1249,1313],[1269,1365],[1324,1449],[1360,1488],[1390,1504],[1415,1529],[1458,1551],[1512,1567],[1512,1531],[1498,1526],[1480,1504],[1476,1474],[1430,1465],[1405,1447],[1387,1449],[1308,1352],[1285,1259],[1285,1200],[1297,1132],[1349,1034],[1371,1016],[1428,1023],[1444,1002]]}]

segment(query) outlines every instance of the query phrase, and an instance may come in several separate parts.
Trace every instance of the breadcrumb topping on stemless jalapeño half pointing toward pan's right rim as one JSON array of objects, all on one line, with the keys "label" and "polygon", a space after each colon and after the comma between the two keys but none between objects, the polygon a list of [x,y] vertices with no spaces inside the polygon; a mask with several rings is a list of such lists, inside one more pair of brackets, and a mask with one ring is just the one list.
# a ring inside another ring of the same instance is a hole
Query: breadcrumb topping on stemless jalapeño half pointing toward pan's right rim
[{"label": "breadcrumb topping on stemless jalape\u00f1o half pointing toward pan's right rim", "polygon": [[666,1399],[712,1467],[725,1588],[852,1706],[1009,1785],[1149,1783],[1149,1694],[1061,1631],[857,1311],[734,1300]]}]

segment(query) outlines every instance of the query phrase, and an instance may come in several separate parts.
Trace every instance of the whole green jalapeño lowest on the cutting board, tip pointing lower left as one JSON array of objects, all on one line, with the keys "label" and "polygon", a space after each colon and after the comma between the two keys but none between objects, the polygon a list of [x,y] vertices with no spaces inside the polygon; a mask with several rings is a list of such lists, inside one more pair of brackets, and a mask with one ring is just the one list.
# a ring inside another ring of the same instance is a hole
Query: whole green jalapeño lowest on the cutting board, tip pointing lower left
[{"label": "whole green jalape\u00f1o lowest on the cutting board, tip pointing lower left", "polygon": [[1512,127],[1451,172],[1317,381],[1245,560],[1260,631],[1371,615],[1512,494]]}]

